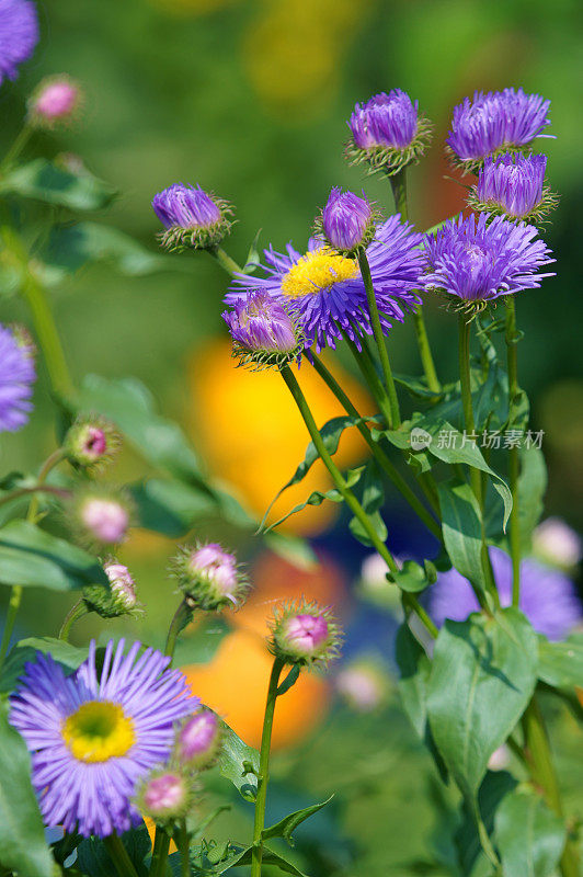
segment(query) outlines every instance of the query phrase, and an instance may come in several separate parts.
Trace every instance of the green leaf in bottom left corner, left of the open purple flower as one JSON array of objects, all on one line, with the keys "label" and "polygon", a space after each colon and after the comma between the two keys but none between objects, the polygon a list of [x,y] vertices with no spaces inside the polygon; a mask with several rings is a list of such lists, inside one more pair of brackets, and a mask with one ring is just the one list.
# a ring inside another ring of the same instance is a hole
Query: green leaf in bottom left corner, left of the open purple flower
[{"label": "green leaf in bottom left corner, left of the open purple flower", "polygon": [[28,750],[9,725],[5,704],[0,706],[0,864],[19,877],[53,875]]}]

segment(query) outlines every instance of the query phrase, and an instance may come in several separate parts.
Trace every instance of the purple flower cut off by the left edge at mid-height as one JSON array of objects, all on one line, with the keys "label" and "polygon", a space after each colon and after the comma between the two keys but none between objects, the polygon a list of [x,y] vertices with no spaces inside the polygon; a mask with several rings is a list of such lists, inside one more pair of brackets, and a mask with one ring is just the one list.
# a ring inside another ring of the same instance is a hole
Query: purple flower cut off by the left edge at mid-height
[{"label": "purple flower cut off by the left edge at mid-height", "polygon": [[16,432],[28,420],[35,377],[31,345],[0,323],[0,432]]}]

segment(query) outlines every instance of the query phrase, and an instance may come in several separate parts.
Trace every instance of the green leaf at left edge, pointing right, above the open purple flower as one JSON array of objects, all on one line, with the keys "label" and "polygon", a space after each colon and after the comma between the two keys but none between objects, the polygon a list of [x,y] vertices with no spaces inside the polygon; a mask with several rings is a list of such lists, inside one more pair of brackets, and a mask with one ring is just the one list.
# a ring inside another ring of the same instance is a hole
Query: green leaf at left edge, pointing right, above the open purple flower
[{"label": "green leaf at left edge, pointing right, above the open purple flower", "polygon": [[0,528],[0,582],[52,591],[110,586],[94,557],[28,521],[10,521]]}]

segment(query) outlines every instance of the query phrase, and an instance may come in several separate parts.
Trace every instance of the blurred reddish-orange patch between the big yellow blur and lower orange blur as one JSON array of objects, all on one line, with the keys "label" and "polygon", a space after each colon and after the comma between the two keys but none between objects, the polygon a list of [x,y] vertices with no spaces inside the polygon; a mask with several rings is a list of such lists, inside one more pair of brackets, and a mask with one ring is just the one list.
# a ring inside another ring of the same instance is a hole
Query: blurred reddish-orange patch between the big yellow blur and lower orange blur
[{"label": "blurred reddish-orange patch between the big yellow blur and lower orange blur", "polygon": [[313,569],[300,569],[282,557],[265,551],[251,570],[253,588],[245,604],[233,612],[230,620],[237,627],[267,636],[267,622],[273,604],[282,600],[305,596],[322,606],[342,606],[346,600],[346,582],[342,569],[325,556],[319,557]]}]

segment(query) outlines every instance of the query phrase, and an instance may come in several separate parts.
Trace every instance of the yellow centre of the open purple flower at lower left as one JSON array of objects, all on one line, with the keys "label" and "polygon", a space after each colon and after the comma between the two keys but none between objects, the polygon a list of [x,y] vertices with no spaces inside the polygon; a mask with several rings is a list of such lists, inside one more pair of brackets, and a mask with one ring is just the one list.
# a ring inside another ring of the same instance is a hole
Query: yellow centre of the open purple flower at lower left
[{"label": "yellow centre of the open purple flower at lower left", "polygon": [[61,733],[72,755],[85,762],[125,755],[136,741],[132,719],[111,701],[82,704],[69,716]]}]

